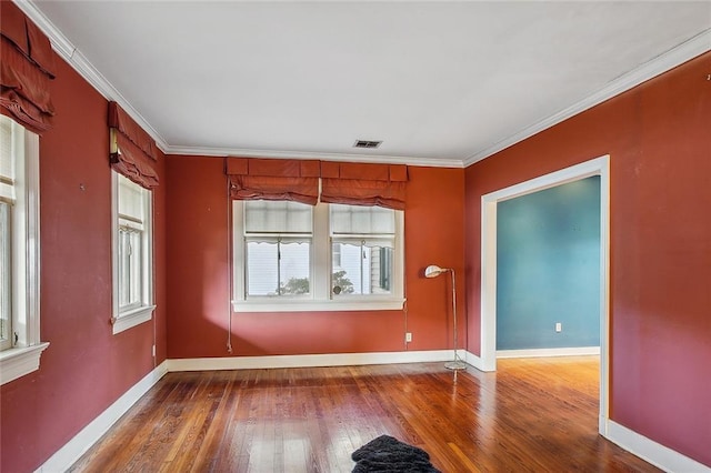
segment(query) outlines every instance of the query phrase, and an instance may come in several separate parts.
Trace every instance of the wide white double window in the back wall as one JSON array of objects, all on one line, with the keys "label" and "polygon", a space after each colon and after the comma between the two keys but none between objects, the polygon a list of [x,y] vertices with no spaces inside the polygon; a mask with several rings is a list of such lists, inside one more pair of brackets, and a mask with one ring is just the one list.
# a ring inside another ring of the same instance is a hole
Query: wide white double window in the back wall
[{"label": "wide white double window in the back wall", "polygon": [[403,303],[403,212],[233,202],[238,312],[393,310]]}]

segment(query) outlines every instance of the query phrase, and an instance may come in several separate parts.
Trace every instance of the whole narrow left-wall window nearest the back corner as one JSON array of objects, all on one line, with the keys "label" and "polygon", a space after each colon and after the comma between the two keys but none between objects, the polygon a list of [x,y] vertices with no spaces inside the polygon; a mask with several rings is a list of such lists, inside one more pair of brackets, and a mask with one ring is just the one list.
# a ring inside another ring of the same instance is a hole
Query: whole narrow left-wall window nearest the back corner
[{"label": "whole narrow left-wall window nearest the back corner", "polygon": [[151,320],[153,309],[151,192],[112,171],[113,333]]}]

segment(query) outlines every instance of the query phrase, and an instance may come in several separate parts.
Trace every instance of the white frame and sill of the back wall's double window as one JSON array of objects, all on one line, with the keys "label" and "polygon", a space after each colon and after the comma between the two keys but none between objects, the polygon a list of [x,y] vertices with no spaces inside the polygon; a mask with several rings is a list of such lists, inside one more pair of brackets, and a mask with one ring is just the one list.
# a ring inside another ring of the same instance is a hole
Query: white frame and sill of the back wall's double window
[{"label": "white frame and sill of the back wall's double window", "polygon": [[[395,210],[392,292],[389,294],[331,294],[331,235],[329,204],[313,207],[311,292],[296,296],[247,298],[244,201],[232,201],[232,310],[234,312],[341,312],[401,310],[404,304],[404,211]],[[306,296],[304,296],[306,295]]]}]

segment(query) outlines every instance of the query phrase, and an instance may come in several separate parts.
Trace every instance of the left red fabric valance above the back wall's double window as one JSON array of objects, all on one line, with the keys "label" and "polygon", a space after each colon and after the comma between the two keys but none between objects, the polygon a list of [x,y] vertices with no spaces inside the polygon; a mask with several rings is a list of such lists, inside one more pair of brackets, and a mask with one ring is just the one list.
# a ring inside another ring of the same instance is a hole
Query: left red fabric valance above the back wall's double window
[{"label": "left red fabric valance above the back wall's double window", "polygon": [[226,173],[236,200],[288,200],[316,205],[320,163],[314,160],[228,158]]}]

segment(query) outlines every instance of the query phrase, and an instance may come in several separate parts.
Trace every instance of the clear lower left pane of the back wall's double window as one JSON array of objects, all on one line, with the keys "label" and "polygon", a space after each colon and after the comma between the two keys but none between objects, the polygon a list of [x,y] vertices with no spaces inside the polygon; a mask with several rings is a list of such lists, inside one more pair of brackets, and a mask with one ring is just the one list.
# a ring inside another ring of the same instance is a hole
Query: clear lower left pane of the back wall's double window
[{"label": "clear lower left pane of the back wall's double window", "polygon": [[311,244],[301,241],[248,241],[247,295],[310,293]]}]

